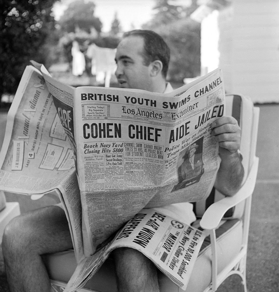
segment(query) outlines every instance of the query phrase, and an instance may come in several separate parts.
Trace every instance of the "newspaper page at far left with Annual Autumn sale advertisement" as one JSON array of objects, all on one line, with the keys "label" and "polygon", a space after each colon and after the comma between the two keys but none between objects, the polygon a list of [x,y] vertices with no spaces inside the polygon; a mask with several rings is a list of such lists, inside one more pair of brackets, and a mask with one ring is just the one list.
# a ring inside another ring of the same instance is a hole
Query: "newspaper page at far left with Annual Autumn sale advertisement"
[{"label": "newspaper page at far left with Annual Autumn sale advertisement", "polygon": [[0,188],[39,194],[75,171],[74,155],[41,73],[27,66],[8,112]]}]

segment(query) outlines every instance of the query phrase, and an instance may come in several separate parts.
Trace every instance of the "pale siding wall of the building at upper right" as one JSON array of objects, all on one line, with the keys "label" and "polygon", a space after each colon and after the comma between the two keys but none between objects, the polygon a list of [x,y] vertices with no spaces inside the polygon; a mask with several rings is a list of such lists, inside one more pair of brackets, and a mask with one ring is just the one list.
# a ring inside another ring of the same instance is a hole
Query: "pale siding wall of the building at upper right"
[{"label": "pale siding wall of the building at upper right", "polygon": [[279,102],[279,1],[232,0],[219,14],[226,91]]}]

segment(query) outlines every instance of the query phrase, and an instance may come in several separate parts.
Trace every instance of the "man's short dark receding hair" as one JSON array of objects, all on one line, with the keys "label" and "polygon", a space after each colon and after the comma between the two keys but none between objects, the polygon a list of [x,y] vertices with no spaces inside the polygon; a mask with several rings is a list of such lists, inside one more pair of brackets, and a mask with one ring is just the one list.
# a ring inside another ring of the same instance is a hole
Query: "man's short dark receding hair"
[{"label": "man's short dark receding hair", "polygon": [[128,36],[140,36],[144,39],[144,65],[148,66],[155,60],[163,63],[162,75],[166,78],[170,61],[170,48],[163,38],[151,30],[135,29],[125,32],[123,38]]}]

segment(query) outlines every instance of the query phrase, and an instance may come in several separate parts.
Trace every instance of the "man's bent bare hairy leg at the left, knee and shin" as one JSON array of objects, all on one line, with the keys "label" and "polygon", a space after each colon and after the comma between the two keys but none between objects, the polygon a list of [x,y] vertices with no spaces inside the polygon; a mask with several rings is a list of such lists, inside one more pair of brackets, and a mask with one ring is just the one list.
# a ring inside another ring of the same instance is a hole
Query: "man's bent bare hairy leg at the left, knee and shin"
[{"label": "man's bent bare hairy leg at the left, knee and shin", "polygon": [[49,292],[42,254],[73,248],[64,211],[47,206],[20,215],[7,225],[2,249],[11,292]]}]

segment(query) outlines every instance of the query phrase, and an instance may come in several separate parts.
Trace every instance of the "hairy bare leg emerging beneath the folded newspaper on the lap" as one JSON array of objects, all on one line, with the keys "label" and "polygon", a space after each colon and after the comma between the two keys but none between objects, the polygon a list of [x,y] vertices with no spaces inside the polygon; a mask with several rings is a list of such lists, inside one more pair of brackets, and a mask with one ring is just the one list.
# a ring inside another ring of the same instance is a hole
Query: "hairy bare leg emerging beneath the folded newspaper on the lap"
[{"label": "hairy bare leg emerging beneath the folded newspaper on the lap", "polygon": [[119,292],[159,292],[157,268],[132,248],[113,251]]}]

